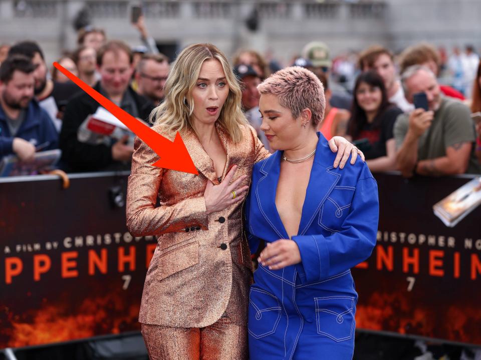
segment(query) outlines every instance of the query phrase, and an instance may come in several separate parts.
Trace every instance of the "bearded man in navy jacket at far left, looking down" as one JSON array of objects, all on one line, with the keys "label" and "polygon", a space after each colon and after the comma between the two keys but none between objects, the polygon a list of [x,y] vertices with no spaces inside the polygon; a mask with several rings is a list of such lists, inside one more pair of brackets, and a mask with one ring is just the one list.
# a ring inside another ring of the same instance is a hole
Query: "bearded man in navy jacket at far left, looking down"
[{"label": "bearded man in navy jacket at far left, looking down", "polygon": [[31,160],[36,146],[58,148],[58,134],[49,114],[34,99],[30,59],[12,55],[0,66],[0,157],[17,154]]}]

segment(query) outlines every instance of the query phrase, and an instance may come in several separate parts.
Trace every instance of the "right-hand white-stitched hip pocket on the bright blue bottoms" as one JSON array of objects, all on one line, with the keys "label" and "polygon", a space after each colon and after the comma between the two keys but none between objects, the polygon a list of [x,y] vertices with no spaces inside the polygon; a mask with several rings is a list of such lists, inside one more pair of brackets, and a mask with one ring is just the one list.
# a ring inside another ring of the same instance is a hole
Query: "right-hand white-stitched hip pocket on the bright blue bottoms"
[{"label": "right-hand white-stitched hip pocket on the bright blue bottoms", "polygon": [[354,332],[354,297],[327,296],[315,297],[317,333],[345,341],[352,338]]}]

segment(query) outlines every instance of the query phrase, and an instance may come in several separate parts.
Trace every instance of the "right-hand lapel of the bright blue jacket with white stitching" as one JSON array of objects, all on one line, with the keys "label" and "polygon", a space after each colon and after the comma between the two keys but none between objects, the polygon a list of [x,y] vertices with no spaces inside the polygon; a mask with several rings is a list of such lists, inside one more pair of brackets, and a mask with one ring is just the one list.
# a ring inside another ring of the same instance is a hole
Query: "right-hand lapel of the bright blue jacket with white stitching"
[{"label": "right-hand lapel of the bright blue jacket with white stitching", "polygon": [[[332,164],[325,161],[325,154],[330,153],[326,138],[318,132],[319,141],[314,155],[314,163],[306,190],[306,198],[302,207],[299,235],[303,235],[319,212],[327,196],[331,193],[341,175],[332,172]],[[349,166],[349,165],[348,165]]]}]

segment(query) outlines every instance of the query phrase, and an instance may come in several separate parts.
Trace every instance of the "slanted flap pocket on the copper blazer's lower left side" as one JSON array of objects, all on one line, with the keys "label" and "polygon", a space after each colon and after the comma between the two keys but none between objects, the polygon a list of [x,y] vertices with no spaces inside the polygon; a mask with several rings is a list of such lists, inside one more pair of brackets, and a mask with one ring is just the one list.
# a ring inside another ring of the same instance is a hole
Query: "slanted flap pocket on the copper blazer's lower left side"
[{"label": "slanted flap pocket on the copper blazer's lower left side", "polygon": [[199,241],[170,246],[158,259],[158,279],[162,280],[174,273],[189,268],[199,262]]}]

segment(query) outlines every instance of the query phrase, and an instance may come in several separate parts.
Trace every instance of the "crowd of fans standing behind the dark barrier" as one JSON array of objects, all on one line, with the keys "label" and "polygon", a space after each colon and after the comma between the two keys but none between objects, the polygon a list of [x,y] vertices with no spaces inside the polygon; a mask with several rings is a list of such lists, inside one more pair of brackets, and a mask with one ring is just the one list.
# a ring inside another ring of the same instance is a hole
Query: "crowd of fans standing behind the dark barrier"
[{"label": "crowd of fans standing behind the dark barrier", "polygon": [[[142,46],[108,40],[104,30],[87,27],[78,34],[77,49],[58,62],[133,116],[148,120],[163,100],[174,59],[159,53],[142,16],[134,25]],[[60,148],[58,166],[67,172],[130,168],[133,145],[127,136],[82,141],[79,128],[99,104],[57,68],[49,71],[37,42],[0,46],[0,61],[0,158],[16,154],[29,161],[37,151]],[[282,66],[253,49],[235,53],[232,65],[242,85],[245,116],[270,150],[257,87]],[[447,57],[428,43],[396,55],[375,45],[331,59],[327,45],[314,41],[286,65],[319,77],[328,104],[318,130],[327,139],[340,135],[356,144],[372,171],[398,169],[408,177],[481,173],[481,124],[471,119],[481,110],[481,64],[472,46],[463,53],[455,48]],[[449,71],[451,86],[445,77],[441,84],[440,74]],[[421,92],[427,106],[415,108]]]}]

